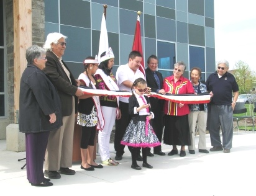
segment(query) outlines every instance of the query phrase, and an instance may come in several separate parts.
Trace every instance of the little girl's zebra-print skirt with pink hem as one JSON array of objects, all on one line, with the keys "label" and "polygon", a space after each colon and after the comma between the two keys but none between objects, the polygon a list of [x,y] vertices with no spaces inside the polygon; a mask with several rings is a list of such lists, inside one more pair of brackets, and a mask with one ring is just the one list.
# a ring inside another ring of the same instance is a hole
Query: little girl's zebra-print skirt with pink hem
[{"label": "little girl's zebra-print skirt with pink hem", "polygon": [[161,143],[158,140],[157,135],[155,135],[150,123],[148,123],[147,127],[148,129],[146,133],[146,122],[138,121],[137,123],[134,123],[130,120],[121,144],[139,148],[160,146]]}]

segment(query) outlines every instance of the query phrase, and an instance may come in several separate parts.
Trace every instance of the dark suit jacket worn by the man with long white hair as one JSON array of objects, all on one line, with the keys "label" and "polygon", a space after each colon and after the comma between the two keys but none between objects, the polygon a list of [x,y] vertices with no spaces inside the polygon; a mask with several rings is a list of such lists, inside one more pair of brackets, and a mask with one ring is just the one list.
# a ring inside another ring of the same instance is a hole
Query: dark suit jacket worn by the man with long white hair
[{"label": "dark suit jacket worn by the man with long white hair", "polygon": [[[69,116],[72,113],[72,99],[75,96],[77,91],[76,80],[71,73],[68,66],[65,65],[64,61],[62,61],[63,65],[70,72],[70,79],[66,75],[64,69],[62,68],[62,64],[58,60],[57,56],[52,51],[46,52],[47,62],[45,63],[45,68],[43,72],[50,76],[53,84],[57,87],[58,95],[60,96],[60,102],[62,104],[62,115]],[[77,112],[78,105],[78,97],[75,96],[75,111]]]}]

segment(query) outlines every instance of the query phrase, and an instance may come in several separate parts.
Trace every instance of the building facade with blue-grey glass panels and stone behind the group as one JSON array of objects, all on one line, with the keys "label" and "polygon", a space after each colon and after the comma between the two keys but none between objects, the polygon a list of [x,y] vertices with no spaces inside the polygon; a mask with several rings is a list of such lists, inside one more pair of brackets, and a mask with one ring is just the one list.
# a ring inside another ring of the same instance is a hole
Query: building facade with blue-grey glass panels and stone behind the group
[{"label": "building facade with blue-grey glass panels and stone behind the group", "polygon": [[[158,71],[170,76],[173,64],[184,61],[184,73],[201,68],[202,81],[215,71],[214,0],[32,0],[32,43],[42,46],[50,32],[66,35],[63,60],[78,77],[83,60],[98,55],[103,4],[107,4],[109,47],[115,55],[114,73],[128,61],[137,11],[141,11],[142,50],[147,67],[158,56]],[[1,6],[2,5],[2,6]],[[0,139],[14,122],[13,0],[0,0]]]}]

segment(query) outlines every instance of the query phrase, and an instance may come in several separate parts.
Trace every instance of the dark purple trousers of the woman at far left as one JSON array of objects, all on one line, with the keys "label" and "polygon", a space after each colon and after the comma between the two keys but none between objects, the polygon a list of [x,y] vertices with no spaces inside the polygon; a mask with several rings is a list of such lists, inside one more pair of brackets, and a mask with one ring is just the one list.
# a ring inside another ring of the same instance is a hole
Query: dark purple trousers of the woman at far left
[{"label": "dark purple trousers of the woman at far left", "polygon": [[43,182],[43,161],[50,131],[25,133],[27,180],[33,184]]}]

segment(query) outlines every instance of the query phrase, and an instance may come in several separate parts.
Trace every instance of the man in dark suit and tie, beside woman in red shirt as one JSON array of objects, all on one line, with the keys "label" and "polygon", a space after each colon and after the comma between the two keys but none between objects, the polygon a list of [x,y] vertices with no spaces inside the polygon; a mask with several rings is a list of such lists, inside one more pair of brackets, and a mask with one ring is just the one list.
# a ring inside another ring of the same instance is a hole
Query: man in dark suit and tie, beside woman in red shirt
[{"label": "man in dark suit and tie, beside woman in red shirt", "polygon": [[[155,55],[149,56],[147,59],[147,69],[145,69],[147,86],[151,88],[152,92],[157,92],[161,94],[165,94],[165,90],[163,90],[163,76],[162,73],[157,71],[158,67],[158,58]],[[160,142],[162,142],[163,136],[163,99],[157,99],[155,97],[149,97],[150,105],[153,114],[155,117],[152,119],[152,127],[157,135],[157,138]],[[158,155],[165,155],[162,152],[161,146],[156,146],[153,148],[153,153]],[[148,148],[147,156],[153,156],[150,152],[150,148]]]}]

